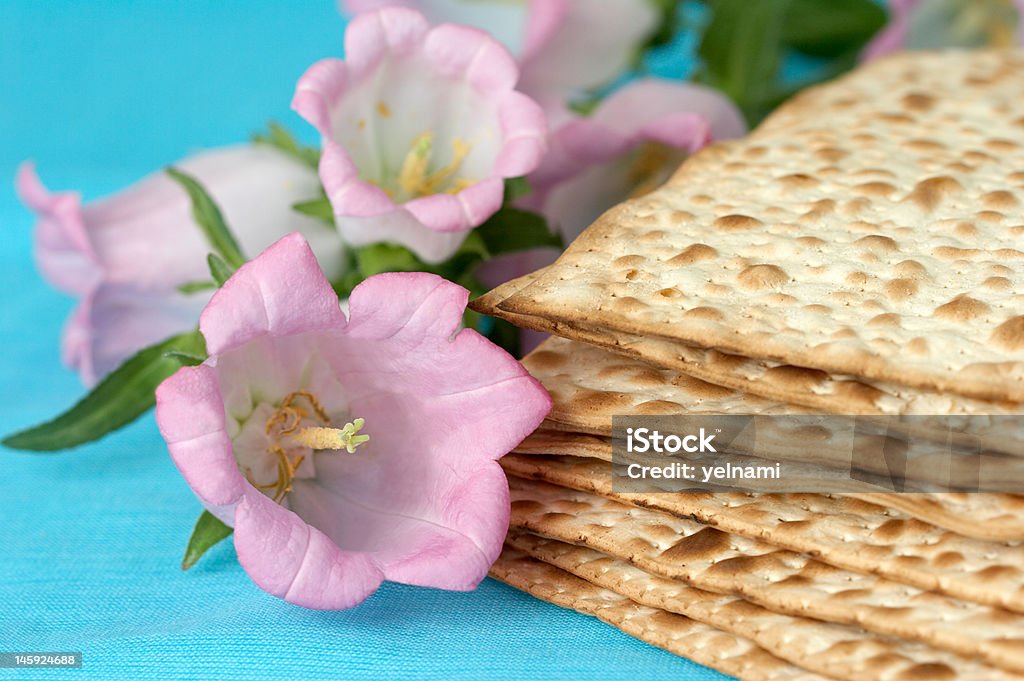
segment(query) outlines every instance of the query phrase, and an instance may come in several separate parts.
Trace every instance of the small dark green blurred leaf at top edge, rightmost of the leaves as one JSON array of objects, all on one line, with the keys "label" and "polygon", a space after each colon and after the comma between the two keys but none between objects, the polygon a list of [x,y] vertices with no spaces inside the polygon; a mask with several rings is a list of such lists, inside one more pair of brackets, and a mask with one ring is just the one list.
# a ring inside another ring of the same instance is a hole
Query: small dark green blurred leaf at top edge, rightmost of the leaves
[{"label": "small dark green blurred leaf at top edge, rightmost of the leaves", "polygon": [[838,57],[859,52],[886,20],[886,10],[871,0],[791,0],[782,41],[813,56]]}]

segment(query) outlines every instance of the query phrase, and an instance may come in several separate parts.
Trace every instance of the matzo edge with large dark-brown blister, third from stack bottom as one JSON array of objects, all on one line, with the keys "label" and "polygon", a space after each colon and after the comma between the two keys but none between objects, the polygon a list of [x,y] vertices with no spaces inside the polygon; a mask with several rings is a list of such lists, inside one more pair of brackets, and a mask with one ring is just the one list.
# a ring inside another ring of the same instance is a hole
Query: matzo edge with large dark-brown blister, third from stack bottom
[{"label": "matzo edge with large dark-brown blister, third from stack bottom", "polygon": [[770,544],[583,492],[511,478],[517,529],[777,612],[858,625],[1024,672],[1024,618],[862,576]]}]

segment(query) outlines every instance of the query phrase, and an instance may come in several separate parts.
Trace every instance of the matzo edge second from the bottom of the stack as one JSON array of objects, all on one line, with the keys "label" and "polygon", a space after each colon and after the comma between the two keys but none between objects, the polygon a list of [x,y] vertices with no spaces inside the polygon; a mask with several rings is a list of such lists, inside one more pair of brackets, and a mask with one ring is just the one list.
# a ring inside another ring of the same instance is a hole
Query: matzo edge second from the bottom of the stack
[{"label": "matzo edge second from the bottom of the stack", "polygon": [[510,534],[506,546],[640,605],[682,614],[750,639],[781,659],[839,681],[1020,679],[1016,674],[913,641],[772,612],[735,596],[694,589],[586,547],[525,533]]}]

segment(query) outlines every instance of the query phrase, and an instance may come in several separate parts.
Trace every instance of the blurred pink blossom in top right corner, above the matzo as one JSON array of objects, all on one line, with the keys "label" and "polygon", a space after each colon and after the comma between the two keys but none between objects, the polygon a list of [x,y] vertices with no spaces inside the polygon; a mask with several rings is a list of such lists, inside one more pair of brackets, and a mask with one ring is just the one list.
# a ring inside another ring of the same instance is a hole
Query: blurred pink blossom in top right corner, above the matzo
[{"label": "blurred pink blossom in top right corner, above the matzo", "polygon": [[1024,0],[890,0],[889,11],[861,59],[901,49],[1024,45]]}]

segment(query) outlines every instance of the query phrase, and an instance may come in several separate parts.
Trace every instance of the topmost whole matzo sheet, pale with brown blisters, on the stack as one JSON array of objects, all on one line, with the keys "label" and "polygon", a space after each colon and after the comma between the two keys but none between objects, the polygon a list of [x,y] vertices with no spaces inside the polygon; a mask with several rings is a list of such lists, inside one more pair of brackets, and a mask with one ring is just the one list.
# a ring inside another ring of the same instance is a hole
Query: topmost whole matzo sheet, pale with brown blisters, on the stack
[{"label": "topmost whole matzo sheet, pale with brown blisters, on the stack", "polygon": [[1024,400],[1024,56],[906,54],[606,213],[511,312]]}]

